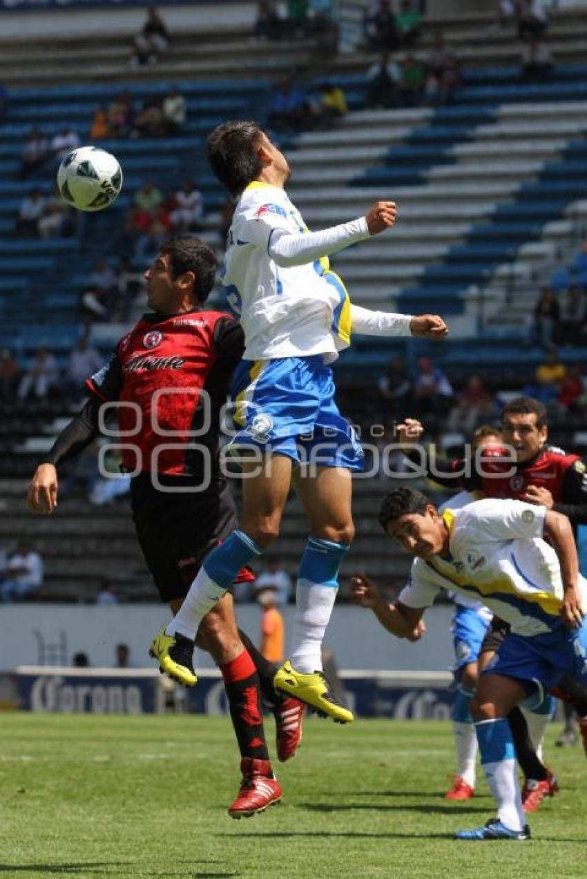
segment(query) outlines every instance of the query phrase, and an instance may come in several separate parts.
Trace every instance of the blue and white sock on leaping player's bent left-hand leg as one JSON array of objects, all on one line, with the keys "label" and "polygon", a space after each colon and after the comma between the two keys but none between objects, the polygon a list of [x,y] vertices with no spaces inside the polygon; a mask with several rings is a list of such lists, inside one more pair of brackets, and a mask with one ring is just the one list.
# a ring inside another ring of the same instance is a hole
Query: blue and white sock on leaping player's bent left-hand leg
[{"label": "blue and white sock on leaping player's bent left-hand leg", "polygon": [[226,541],[206,556],[184,603],[165,629],[167,634],[179,633],[195,641],[199,624],[208,611],[228,592],[239,570],[262,552],[243,531],[233,531]]}]

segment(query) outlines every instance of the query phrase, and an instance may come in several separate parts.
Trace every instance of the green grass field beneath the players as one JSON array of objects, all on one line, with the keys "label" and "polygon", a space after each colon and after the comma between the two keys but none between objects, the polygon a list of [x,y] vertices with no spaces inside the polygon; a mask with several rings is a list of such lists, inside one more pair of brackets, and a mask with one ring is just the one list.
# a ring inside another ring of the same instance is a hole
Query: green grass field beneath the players
[{"label": "green grass field beneath the players", "polygon": [[15,879],[587,874],[578,746],[549,749],[563,789],[533,817],[533,840],[475,844],[451,834],[482,824],[491,800],[484,781],[470,803],[442,799],[447,723],[311,719],[279,766],[283,803],[241,821],[226,815],[238,772],[225,719],[4,714],[0,730],[0,873]]}]

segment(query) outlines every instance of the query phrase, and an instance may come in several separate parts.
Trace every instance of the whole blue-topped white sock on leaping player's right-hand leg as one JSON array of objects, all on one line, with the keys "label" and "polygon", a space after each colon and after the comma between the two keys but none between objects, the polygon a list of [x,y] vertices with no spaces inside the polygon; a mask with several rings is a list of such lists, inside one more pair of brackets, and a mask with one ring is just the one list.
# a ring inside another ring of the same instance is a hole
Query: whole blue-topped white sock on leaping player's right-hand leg
[{"label": "whole blue-topped white sock on leaping player's right-hand leg", "polygon": [[308,537],[295,592],[292,665],[297,672],[322,671],[322,639],[338,592],[338,569],[350,544]]}]

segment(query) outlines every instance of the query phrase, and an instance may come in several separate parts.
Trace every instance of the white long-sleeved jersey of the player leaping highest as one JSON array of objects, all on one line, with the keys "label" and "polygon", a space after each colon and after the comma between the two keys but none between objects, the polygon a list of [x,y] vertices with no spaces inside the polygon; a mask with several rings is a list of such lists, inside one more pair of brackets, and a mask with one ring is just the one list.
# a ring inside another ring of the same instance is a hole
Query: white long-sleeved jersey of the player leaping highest
[{"label": "white long-sleeved jersey of the player leaping highest", "polygon": [[[284,237],[285,234],[285,237]],[[287,253],[287,236],[303,252]],[[228,233],[221,280],[243,326],[246,360],[309,357],[335,360],[351,329],[369,335],[409,335],[410,316],[351,306],[328,256],[369,237],[364,217],[309,233],[278,186],[255,181],[244,190]],[[283,251],[283,252],[281,252]]]}]

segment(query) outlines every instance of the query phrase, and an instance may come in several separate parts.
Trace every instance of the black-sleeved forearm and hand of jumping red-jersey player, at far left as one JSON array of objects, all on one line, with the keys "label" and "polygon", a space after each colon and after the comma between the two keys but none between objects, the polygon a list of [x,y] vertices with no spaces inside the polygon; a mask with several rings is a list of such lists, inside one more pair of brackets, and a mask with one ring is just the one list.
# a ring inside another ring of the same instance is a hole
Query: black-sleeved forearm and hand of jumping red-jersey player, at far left
[{"label": "black-sleeved forearm and hand of jumping red-jersey player, at far left", "polygon": [[98,435],[99,406],[96,398],[88,399],[76,418],[72,418],[55,439],[47,461],[43,461],[35,470],[26,497],[26,504],[33,512],[45,515],[54,512],[59,494],[57,467],[75,457]]}]

